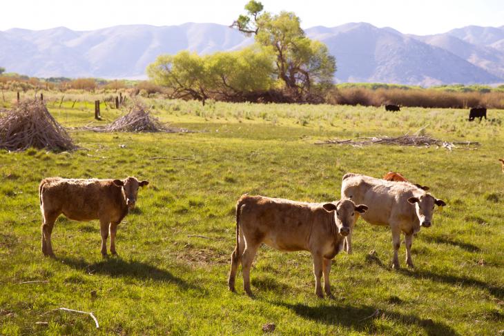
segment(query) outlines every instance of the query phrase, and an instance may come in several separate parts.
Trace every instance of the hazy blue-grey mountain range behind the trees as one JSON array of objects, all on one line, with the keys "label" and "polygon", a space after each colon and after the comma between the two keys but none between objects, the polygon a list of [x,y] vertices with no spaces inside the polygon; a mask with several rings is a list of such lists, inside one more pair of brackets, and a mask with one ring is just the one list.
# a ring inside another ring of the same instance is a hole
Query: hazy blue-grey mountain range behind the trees
[{"label": "hazy blue-grey mountain range behind the trees", "polygon": [[[432,86],[504,82],[504,26],[467,26],[419,36],[369,23],[305,30],[336,57],[337,82]],[[157,55],[210,53],[253,43],[215,23],[128,25],[90,31],[59,27],[0,31],[0,66],[35,77],[146,78]]]}]

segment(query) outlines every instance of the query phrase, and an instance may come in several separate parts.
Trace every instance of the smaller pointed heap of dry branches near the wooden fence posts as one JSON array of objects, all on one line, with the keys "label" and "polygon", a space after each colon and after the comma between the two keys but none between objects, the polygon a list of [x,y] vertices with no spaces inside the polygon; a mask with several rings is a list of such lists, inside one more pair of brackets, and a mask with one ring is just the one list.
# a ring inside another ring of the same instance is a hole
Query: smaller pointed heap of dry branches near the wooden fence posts
[{"label": "smaller pointed heap of dry branches near the wooden fence posts", "polygon": [[138,102],[130,108],[127,115],[116,119],[113,123],[107,126],[85,126],[84,129],[95,132],[187,132],[182,128],[165,126]]}]

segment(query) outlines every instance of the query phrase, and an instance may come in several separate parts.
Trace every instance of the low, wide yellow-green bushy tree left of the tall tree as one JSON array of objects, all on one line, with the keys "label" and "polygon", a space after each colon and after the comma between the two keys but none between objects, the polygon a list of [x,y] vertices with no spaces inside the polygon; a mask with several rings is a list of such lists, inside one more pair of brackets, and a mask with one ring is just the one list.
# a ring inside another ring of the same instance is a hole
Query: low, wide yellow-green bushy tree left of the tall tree
[{"label": "low, wide yellow-green bushy tree left of the tall tree", "polygon": [[242,99],[247,93],[269,90],[274,83],[274,55],[266,48],[199,56],[181,51],[161,55],[147,67],[148,77],[173,90],[172,96],[202,101],[209,97]]}]

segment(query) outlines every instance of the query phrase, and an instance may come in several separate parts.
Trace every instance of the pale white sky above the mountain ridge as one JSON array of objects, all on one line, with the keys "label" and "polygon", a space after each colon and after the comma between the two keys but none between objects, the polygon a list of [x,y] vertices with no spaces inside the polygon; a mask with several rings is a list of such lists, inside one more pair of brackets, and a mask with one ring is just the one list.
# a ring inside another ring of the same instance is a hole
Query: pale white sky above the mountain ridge
[{"label": "pale white sky above the mountain ridge", "polygon": [[[230,25],[248,0],[3,0],[0,30],[64,26],[95,30],[124,24],[186,22]],[[288,10],[302,28],[367,22],[407,34],[436,34],[463,26],[504,26],[504,0],[263,0],[269,12]]]}]

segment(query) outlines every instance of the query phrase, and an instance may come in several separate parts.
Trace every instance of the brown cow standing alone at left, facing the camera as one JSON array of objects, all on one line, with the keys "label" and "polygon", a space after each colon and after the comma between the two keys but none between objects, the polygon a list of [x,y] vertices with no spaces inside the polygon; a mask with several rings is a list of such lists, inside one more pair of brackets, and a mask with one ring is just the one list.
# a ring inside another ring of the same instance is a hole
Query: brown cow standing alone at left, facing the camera
[{"label": "brown cow standing alone at left, facing the camera", "polygon": [[40,210],[43,224],[42,253],[55,257],[52,251],[52,228],[59,215],[76,221],[99,219],[101,255],[107,255],[107,238],[110,230],[110,253],[115,250],[117,226],[135,208],[138,188],[148,181],[135,177],[120,179],[63,179],[48,177],[39,185]]}]

